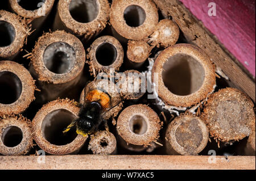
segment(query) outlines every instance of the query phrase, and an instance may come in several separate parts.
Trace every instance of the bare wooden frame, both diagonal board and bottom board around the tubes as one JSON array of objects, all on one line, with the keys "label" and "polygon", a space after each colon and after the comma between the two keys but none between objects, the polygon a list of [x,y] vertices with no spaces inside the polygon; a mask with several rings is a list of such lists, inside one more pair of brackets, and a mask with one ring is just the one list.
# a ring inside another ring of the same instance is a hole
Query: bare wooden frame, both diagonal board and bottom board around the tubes
[{"label": "bare wooden frame, both diagonal board and bottom board around the tubes", "polygon": [[[255,79],[178,0],[154,0],[163,14],[172,16],[188,43],[203,49],[229,77],[232,86],[245,91],[255,103]],[[255,156],[182,155],[47,155],[39,164],[37,156],[0,156],[0,169],[254,169]],[[213,157],[212,157],[213,158]]]}]

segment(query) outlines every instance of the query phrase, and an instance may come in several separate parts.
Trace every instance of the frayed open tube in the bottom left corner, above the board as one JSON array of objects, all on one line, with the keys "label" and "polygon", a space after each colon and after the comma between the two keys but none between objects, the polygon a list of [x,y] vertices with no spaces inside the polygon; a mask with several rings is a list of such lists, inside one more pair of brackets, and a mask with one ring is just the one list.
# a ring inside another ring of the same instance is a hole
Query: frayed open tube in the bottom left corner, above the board
[{"label": "frayed open tube in the bottom left corner, above the board", "polygon": [[0,153],[23,155],[32,146],[30,121],[23,116],[7,116],[0,119]]}]

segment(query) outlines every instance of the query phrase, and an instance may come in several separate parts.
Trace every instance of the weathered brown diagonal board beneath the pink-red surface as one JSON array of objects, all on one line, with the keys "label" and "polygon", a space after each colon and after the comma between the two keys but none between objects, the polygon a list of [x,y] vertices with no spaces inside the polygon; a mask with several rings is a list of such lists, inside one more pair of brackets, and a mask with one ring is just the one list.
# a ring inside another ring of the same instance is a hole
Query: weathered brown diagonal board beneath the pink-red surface
[{"label": "weathered brown diagonal board beneath the pink-red surface", "polygon": [[180,27],[188,43],[195,44],[229,77],[234,87],[246,92],[255,103],[255,79],[247,69],[178,0],[154,0],[159,9]]}]

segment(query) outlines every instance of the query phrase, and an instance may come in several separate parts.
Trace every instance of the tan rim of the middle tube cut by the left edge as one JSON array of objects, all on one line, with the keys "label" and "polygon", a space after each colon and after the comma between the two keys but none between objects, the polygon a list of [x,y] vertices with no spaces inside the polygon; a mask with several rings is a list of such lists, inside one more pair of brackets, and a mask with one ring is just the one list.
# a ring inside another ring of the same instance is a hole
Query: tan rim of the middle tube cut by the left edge
[{"label": "tan rim of the middle tube cut by the left edge", "polygon": [[22,82],[22,92],[14,103],[1,104],[0,116],[18,114],[27,109],[30,103],[35,99],[35,81],[26,68],[13,61],[0,61],[0,71],[10,71],[17,75]]}]

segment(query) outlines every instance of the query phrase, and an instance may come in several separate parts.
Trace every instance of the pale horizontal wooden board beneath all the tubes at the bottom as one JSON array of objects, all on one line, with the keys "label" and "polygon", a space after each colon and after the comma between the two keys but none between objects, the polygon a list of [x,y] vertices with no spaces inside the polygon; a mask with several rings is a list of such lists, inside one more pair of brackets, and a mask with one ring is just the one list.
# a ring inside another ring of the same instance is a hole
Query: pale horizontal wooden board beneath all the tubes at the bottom
[{"label": "pale horizontal wooden board beneath all the tubes at the bottom", "polygon": [[209,163],[209,156],[182,155],[62,155],[46,156],[45,163],[38,158],[0,156],[0,169],[255,170],[255,157],[249,156],[217,156],[216,163]]}]

